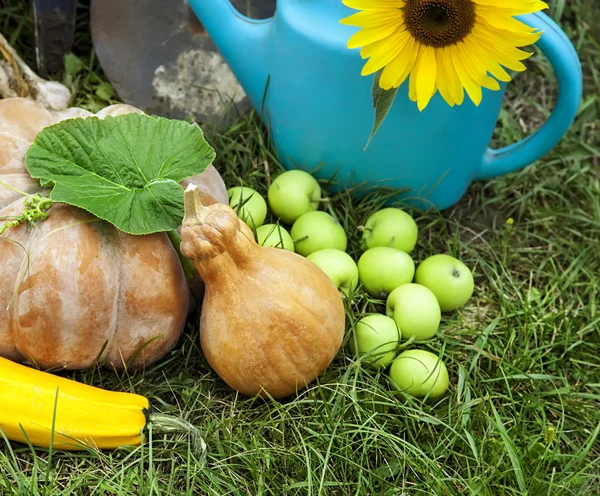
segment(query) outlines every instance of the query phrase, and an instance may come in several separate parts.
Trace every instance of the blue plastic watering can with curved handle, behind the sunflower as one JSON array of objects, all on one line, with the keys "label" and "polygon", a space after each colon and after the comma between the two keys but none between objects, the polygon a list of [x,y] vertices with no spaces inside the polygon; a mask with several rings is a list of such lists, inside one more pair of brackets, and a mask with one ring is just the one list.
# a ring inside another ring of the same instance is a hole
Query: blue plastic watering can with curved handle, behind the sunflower
[{"label": "blue plastic watering can with curved handle, behind the sunflower", "polygon": [[550,151],[572,124],[581,99],[581,65],[573,45],[548,16],[530,14],[520,19],[544,30],[537,46],[559,85],[550,118],[534,134],[506,148],[489,148],[505,83],[500,91],[484,89],[479,107],[467,98],[450,107],[436,94],[419,112],[405,82],[365,150],[374,119],[373,80],[360,75],[359,51],[346,47],[357,28],[339,22],[355,10],[341,0],[279,0],[272,18],[254,20],[229,0],[189,4],[270,129],[284,167],[333,177],[332,190],[408,189],[401,195],[407,203],[448,208],[473,180],[522,169]]}]

